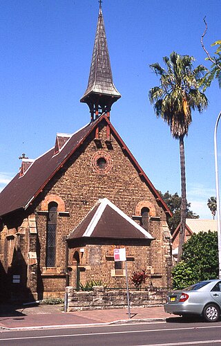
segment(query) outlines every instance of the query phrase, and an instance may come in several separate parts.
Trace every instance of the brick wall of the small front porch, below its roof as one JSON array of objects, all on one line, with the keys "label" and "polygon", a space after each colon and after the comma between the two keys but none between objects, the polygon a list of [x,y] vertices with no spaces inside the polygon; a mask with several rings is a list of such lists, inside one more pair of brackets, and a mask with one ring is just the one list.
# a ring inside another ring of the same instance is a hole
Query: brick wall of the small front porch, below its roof
[{"label": "brick wall of the small front porch, below its roof", "polygon": [[[124,241],[125,242],[125,241]],[[115,262],[113,259],[114,248],[126,248],[128,277],[133,275],[133,272],[147,271],[149,276],[146,284],[151,284],[151,270],[148,267],[150,262],[150,246],[148,244],[135,244],[133,240],[130,242],[120,242],[121,244],[104,244],[84,246],[84,253],[79,253],[79,269],[74,259],[75,251],[79,252],[79,248],[71,248],[69,251],[69,264],[72,271],[70,272],[70,284],[77,286],[77,270],[79,270],[79,280],[81,284],[86,284],[90,280],[102,280],[102,283],[108,284],[108,287],[126,287],[125,264],[122,264],[124,273],[115,275]],[[133,284],[130,282],[133,286]],[[158,282],[159,284],[159,282]]]}]

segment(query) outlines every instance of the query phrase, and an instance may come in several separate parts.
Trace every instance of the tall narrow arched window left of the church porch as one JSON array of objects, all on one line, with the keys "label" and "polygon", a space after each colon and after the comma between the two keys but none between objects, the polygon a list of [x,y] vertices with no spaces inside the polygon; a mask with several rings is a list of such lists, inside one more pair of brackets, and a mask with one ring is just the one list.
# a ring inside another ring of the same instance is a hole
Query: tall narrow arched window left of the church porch
[{"label": "tall narrow arched window left of the church porch", "polygon": [[46,266],[55,266],[56,257],[57,203],[48,204]]}]

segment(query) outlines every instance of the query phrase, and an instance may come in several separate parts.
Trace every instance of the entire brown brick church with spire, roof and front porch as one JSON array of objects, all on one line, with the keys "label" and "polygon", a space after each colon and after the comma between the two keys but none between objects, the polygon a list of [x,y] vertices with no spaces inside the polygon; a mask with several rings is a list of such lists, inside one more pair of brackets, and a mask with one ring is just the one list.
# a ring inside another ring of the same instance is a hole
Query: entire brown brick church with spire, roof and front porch
[{"label": "entire brown brick church with spire, roof and front porch", "polygon": [[171,211],[110,120],[120,94],[113,84],[99,8],[88,87],[90,123],[57,134],[55,147],[20,172],[0,194],[0,297],[63,297],[65,286],[102,280],[125,286],[144,269],[146,285],[171,286]]}]

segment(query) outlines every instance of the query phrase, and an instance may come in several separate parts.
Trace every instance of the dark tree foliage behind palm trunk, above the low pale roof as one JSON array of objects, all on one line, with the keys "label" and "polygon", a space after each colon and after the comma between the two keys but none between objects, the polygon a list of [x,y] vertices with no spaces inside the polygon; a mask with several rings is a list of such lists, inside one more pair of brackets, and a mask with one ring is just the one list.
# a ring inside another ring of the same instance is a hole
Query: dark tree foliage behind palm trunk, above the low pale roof
[{"label": "dark tree foliage behind palm trunk, above the low pale roof", "polygon": [[[161,191],[159,191],[162,199],[164,199],[164,202],[169,206],[171,212],[173,212],[173,217],[169,217],[168,219],[168,226],[171,231],[171,234],[173,235],[173,232],[177,228],[177,226],[180,224],[180,209],[181,209],[181,197],[175,192],[175,194],[170,194],[169,191],[166,191],[164,194],[162,194]],[[199,215],[196,215],[195,212],[192,212],[189,208],[191,207],[191,203],[188,203],[186,201],[186,218],[188,219],[199,219]]]}]

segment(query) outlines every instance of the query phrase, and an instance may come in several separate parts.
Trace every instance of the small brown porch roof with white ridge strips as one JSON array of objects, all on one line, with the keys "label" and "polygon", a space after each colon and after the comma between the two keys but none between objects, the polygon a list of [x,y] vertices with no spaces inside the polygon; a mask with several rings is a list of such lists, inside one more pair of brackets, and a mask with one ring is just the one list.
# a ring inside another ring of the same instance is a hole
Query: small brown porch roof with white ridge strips
[{"label": "small brown porch roof with white ridge strips", "polygon": [[150,233],[106,198],[99,200],[81,224],[73,230],[68,240],[81,237],[154,239]]}]

